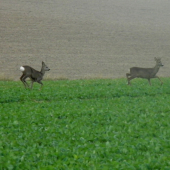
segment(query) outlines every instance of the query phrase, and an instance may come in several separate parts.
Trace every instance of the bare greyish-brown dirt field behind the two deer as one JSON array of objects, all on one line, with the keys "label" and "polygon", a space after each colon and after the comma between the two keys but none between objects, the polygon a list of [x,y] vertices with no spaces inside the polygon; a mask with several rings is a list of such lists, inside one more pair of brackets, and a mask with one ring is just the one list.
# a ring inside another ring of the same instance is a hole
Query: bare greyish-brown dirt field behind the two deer
[{"label": "bare greyish-brown dirt field behind the two deer", "polygon": [[118,78],[131,66],[170,74],[168,0],[0,0],[0,78],[19,80],[21,65],[45,78]]}]

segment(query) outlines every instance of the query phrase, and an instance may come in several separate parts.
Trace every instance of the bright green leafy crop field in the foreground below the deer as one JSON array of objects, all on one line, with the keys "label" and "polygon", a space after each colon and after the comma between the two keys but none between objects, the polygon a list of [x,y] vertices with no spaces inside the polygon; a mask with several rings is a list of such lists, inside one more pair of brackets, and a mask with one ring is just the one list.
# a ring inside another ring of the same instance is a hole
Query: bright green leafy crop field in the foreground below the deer
[{"label": "bright green leafy crop field in the foreground below the deer", "polygon": [[162,80],[0,81],[0,170],[169,170]]}]

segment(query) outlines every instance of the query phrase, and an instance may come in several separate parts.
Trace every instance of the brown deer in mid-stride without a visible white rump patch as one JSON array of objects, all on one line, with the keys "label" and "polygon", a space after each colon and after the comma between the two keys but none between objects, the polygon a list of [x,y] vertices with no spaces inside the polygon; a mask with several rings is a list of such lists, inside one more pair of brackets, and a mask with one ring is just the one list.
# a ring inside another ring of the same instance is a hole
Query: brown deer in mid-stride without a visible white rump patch
[{"label": "brown deer in mid-stride without a visible white rump patch", "polygon": [[163,66],[163,64],[162,64],[160,58],[155,57],[155,61],[156,61],[156,65],[153,68],[140,68],[140,67],[130,68],[130,73],[126,73],[128,85],[131,85],[130,80],[132,80],[134,78],[148,79],[148,82],[150,85],[151,85],[151,82],[150,82],[151,78],[158,78],[162,85],[163,82],[161,81],[161,79],[158,76],[156,76],[156,73],[159,71],[159,68],[161,66]]}]

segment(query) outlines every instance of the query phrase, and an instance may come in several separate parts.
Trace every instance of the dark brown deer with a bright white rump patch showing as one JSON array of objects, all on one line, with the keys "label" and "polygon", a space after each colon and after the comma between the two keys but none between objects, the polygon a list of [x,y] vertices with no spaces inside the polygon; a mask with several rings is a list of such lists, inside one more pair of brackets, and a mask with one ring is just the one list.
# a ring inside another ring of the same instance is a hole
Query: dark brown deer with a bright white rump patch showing
[{"label": "dark brown deer with a bright white rump patch showing", "polygon": [[[31,79],[31,87],[30,88],[32,89],[34,82],[41,84],[41,88],[42,88],[43,83],[41,82],[41,80],[43,79],[45,71],[49,71],[50,69],[42,61],[41,71],[37,71],[30,66],[21,66],[20,70],[23,73],[22,76],[20,77],[20,80],[23,82],[25,88],[29,87],[28,83],[25,81],[26,78],[29,77]],[[41,90],[41,88],[40,88],[40,90]]]}]

